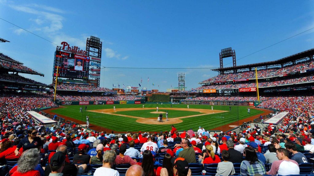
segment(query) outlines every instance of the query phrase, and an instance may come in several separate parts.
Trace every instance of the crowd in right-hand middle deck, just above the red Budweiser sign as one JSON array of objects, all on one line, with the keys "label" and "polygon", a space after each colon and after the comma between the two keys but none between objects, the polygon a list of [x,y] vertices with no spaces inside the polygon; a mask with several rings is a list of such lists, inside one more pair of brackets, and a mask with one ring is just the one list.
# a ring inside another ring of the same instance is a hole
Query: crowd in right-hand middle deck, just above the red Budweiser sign
[{"label": "crowd in right-hand middle deck, just above the red Budweiser sign", "polygon": [[[314,81],[314,76],[304,76],[300,78],[292,78],[292,79],[285,79],[285,80],[276,80],[270,82],[258,82],[258,87],[268,87],[268,86],[276,86],[276,85],[285,85],[285,84],[293,84],[293,83],[302,83],[302,82],[309,82]],[[256,83],[236,83],[236,84],[217,84],[217,85],[203,85],[198,88],[197,90],[203,89],[231,89],[231,88],[245,88],[245,87],[256,87]]]}]

